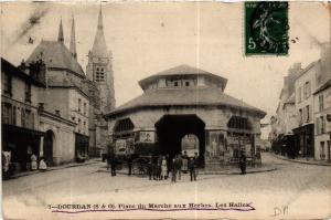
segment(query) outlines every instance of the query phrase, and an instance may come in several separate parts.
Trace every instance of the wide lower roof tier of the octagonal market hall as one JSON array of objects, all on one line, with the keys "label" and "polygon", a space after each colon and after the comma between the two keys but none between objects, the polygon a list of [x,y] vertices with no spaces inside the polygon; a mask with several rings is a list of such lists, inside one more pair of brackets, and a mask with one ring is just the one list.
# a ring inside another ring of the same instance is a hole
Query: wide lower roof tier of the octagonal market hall
[{"label": "wide lower roof tier of the octagonal market hall", "polygon": [[111,111],[108,116],[135,108],[156,107],[156,106],[229,106],[256,112],[263,116],[265,112],[248,105],[237,98],[221,92],[220,88],[160,88],[147,91],[142,95],[129,101],[128,103]]}]

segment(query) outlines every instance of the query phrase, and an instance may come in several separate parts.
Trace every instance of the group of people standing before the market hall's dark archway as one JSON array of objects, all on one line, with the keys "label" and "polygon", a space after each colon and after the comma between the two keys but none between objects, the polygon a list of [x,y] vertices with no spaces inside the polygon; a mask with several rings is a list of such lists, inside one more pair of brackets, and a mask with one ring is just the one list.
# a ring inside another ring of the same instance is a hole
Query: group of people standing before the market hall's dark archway
[{"label": "group of people standing before the market hall's dark archway", "polygon": [[181,180],[182,174],[190,172],[191,181],[196,180],[197,154],[194,157],[184,155],[175,155],[171,158],[169,155],[160,155],[156,159],[150,159],[148,164],[148,176],[150,180],[167,180],[175,182]]}]

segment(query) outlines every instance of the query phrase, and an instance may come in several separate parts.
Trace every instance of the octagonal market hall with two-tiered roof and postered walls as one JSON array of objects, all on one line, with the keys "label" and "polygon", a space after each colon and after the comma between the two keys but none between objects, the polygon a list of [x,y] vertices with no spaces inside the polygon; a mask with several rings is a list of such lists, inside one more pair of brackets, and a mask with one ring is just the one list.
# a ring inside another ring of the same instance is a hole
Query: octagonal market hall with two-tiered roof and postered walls
[{"label": "octagonal market hall with two-tiered roof and postered walls", "polygon": [[141,80],[143,94],[107,114],[115,151],[173,157],[192,148],[207,169],[237,163],[241,150],[260,159],[265,113],[226,95],[226,83],[188,65]]}]

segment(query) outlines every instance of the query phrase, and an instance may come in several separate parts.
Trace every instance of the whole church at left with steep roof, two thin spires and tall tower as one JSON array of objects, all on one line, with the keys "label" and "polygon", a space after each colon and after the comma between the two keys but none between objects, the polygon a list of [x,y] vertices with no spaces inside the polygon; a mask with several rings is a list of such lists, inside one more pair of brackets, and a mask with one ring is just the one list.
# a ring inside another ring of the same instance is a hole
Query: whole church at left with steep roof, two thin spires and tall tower
[{"label": "whole church at left with steep roof, two thin spires and tall tower", "polygon": [[77,62],[74,19],[70,48],[64,44],[61,21],[57,41],[42,41],[20,67],[29,72],[39,60],[45,64],[46,84],[45,93],[39,102],[45,111],[75,124],[76,157],[99,156],[108,143],[104,113],[115,107],[111,53],[106,46],[102,10],[93,49],[88,53],[87,74]]}]

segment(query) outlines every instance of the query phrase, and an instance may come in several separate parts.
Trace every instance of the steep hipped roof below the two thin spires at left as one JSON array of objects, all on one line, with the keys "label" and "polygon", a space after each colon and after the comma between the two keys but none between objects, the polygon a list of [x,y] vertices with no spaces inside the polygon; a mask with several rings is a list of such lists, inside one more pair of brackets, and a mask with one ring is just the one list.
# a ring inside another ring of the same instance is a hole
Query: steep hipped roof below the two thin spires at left
[{"label": "steep hipped roof below the two thin spires at left", "polygon": [[66,69],[76,74],[85,76],[81,64],[71,54],[68,49],[58,41],[42,41],[32,52],[26,63],[36,61],[41,57],[46,64],[46,67]]}]

